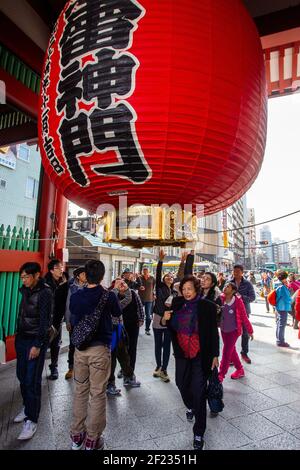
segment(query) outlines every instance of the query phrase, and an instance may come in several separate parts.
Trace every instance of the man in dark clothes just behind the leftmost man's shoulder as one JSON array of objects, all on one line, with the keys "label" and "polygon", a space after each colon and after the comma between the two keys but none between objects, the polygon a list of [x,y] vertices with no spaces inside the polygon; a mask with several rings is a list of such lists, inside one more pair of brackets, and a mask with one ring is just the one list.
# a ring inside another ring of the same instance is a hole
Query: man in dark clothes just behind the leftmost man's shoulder
[{"label": "man in dark clothes just behind the leftmost man's shoulder", "polygon": [[51,364],[48,379],[58,379],[58,356],[61,345],[62,320],[66,310],[68,296],[68,283],[63,277],[63,265],[59,259],[52,259],[48,263],[48,272],[45,276],[46,283],[50,286],[54,299],[53,326],[58,331],[58,335],[50,344]]}]

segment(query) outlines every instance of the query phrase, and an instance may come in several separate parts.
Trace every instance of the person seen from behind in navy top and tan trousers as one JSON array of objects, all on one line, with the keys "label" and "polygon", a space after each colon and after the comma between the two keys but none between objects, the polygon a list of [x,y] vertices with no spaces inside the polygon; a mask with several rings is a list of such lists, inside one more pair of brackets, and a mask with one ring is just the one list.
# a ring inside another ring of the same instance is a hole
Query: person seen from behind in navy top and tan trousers
[{"label": "person seen from behind in navy top and tan trousers", "polygon": [[74,401],[71,424],[72,449],[103,449],[106,426],[106,386],[111,370],[112,317],[122,315],[113,292],[101,285],[105,267],[101,261],[85,265],[87,287],[71,296],[73,328]]}]

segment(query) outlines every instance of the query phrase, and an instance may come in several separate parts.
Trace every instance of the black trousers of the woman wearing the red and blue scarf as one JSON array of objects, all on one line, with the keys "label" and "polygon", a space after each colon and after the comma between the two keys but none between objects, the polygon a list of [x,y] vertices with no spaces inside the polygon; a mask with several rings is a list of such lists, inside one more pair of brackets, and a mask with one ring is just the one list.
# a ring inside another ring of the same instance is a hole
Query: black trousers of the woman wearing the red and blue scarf
[{"label": "black trousers of the woman wearing the red and blue scarf", "polygon": [[203,437],[206,429],[207,379],[200,355],[194,359],[175,359],[175,366],[175,381],[183,403],[195,415],[194,435]]}]

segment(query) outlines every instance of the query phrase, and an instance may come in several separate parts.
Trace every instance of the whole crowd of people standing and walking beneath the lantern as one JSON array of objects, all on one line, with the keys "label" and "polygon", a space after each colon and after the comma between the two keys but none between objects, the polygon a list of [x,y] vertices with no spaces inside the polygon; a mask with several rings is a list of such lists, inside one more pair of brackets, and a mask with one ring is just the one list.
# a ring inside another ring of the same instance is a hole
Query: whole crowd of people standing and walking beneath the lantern
[{"label": "whole crowd of people standing and walking beneath the lantern", "polygon": [[[65,321],[70,337],[65,379],[73,378],[75,385],[70,429],[73,450],[104,448],[106,400],[121,395],[115,381],[117,362],[117,375],[123,378],[124,387],[141,386],[135,366],[143,327],[146,335],[153,332],[153,377],[164,383],[171,380],[168,365],[173,349],[175,383],[186,407],[186,418],[194,421],[193,447],[204,449],[208,381],[214,375],[222,387],[230,366],[234,366],[231,379],[238,380],[245,375],[243,362],[251,364],[249,339],[253,340],[254,332],[250,304],[256,299],[258,282],[254,273],[246,278],[242,265],[235,265],[229,277],[223,273],[195,273],[193,251],[182,254],[177,273],[163,271],[164,259],[161,250],[154,275],[148,267],[139,275],[126,269],[107,288],[101,284],[105,275],[101,261],[87,261],[73,271],[71,279],[58,259],[49,262],[44,277],[38,263],[28,262],[20,268],[23,284],[15,346],[23,408],[14,421],[23,423],[23,428],[18,439],[30,439],[37,430],[48,348],[48,379],[58,379]],[[289,313],[294,327],[298,327],[300,282],[284,271],[276,276],[262,273],[260,295],[267,312],[272,292],[276,343],[278,347],[289,347],[285,327]],[[240,355],[236,349],[239,337]]]}]

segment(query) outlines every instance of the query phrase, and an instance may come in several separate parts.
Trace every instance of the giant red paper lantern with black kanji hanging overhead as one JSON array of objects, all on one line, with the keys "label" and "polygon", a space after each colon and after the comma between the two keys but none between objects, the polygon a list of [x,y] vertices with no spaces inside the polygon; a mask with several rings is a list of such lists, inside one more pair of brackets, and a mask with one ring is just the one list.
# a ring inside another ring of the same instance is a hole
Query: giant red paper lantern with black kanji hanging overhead
[{"label": "giant red paper lantern with black kanji hanging overhead", "polygon": [[50,40],[40,140],[63,194],[228,207],[255,180],[267,95],[239,0],[71,0]]}]

